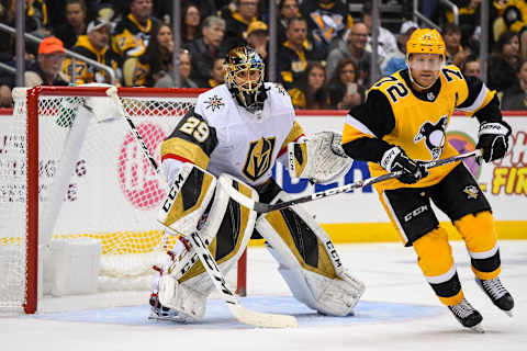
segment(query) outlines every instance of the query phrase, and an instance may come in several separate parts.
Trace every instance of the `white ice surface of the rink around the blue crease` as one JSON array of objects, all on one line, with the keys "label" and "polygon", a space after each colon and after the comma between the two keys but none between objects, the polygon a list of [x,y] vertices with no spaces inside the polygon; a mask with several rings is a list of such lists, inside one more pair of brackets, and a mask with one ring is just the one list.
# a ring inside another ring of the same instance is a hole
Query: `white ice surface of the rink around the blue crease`
[{"label": "white ice surface of the rink around the blue crease", "polygon": [[[492,305],[475,285],[462,242],[452,241],[451,245],[466,297],[483,315],[485,333],[462,328],[440,305],[425,282],[412,249],[400,244],[349,244],[337,248],[345,264],[367,284],[362,297],[365,305],[428,306],[435,313],[388,321],[379,316],[379,319],[349,324],[339,320],[325,324],[324,318],[332,317],[318,316],[314,324],[303,325],[300,320],[296,329],[257,329],[236,325],[234,319],[218,327],[210,321],[201,326],[126,325],[98,322],[97,319],[104,319],[105,307],[146,306],[148,292],[48,297],[42,302],[37,316],[0,317],[0,350],[527,350],[527,241],[501,241],[502,282],[516,302],[513,318]],[[249,296],[291,295],[276,270],[277,263],[264,248],[249,248],[248,260]],[[218,301],[214,302],[217,305]],[[240,302],[244,304],[244,299]],[[93,310],[94,320],[43,319],[57,312],[76,310]],[[359,317],[360,313],[347,318]]]}]

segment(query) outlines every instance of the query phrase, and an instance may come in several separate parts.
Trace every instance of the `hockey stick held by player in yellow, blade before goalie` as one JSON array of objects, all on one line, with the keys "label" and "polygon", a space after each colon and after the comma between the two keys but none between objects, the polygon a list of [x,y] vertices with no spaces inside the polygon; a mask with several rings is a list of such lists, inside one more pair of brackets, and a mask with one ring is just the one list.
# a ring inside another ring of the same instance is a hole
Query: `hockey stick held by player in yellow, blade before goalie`
[{"label": "hockey stick held by player in yellow, blade before goalie", "polygon": [[[449,158],[444,158],[444,159],[440,159],[440,160],[437,160],[437,161],[430,161],[430,162],[425,163],[425,167],[427,169],[428,168],[435,168],[435,167],[439,167],[439,166],[442,166],[442,165],[457,162],[457,161],[460,161],[460,160],[463,160],[463,159],[470,158],[470,157],[481,157],[481,150],[474,150],[474,151],[471,151],[471,152],[461,154],[461,155],[452,156],[452,157],[449,157]],[[290,206],[293,206],[293,205],[298,205],[298,204],[301,204],[301,203],[304,203],[304,202],[311,202],[311,201],[314,201],[314,200],[318,200],[318,199],[345,193],[345,192],[350,191],[352,189],[359,189],[359,188],[363,188],[363,186],[367,186],[367,185],[370,185],[370,184],[383,182],[383,181],[386,181],[386,180],[390,180],[390,179],[393,179],[393,178],[397,178],[401,174],[403,174],[402,171],[396,171],[396,172],[391,172],[391,173],[386,173],[386,174],[382,174],[382,176],[378,176],[378,177],[373,177],[373,178],[368,178],[368,179],[365,179],[365,180],[358,180],[358,181],[356,181],[354,183],[350,183],[350,184],[346,184],[346,185],[343,185],[343,186],[321,191],[321,192],[317,192],[317,193],[313,193],[311,195],[296,197],[296,199],[285,201],[285,202],[280,202],[280,203],[277,203],[277,204],[266,204],[266,203],[257,202],[253,199],[249,199],[249,197],[245,196],[244,194],[238,192],[236,189],[234,189],[232,186],[232,183],[229,183],[227,179],[223,179],[223,178],[220,179],[220,184],[225,189],[225,191],[231,195],[231,197],[233,197],[236,202],[244,205],[245,207],[247,207],[249,210],[254,210],[258,213],[268,213],[268,212],[272,212],[272,211],[283,210],[283,208],[287,208],[287,207],[290,207]]]}]

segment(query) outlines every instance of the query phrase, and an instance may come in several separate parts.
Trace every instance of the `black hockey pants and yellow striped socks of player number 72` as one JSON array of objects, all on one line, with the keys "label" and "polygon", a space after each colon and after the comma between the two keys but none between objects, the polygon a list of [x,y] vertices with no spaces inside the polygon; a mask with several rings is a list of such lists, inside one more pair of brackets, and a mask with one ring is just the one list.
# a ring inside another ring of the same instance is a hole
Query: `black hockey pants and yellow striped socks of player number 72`
[{"label": "black hockey pants and yellow striped socks of player number 72", "polygon": [[385,190],[379,196],[404,245],[414,247],[419,268],[442,304],[458,304],[463,292],[447,230],[439,225],[431,202],[450,218],[464,240],[474,274],[482,280],[500,274],[491,206],[464,163],[435,185]]}]

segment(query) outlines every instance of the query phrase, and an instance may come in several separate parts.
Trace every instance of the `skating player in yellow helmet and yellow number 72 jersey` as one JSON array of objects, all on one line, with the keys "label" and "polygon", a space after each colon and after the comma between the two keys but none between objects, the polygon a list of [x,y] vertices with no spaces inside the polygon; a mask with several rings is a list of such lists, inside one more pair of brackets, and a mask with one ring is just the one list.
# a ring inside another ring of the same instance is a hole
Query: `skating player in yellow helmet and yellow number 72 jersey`
[{"label": "skating player in yellow helmet and yellow number 72 jersey", "polygon": [[455,110],[480,123],[476,148],[490,162],[507,151],[511,127],[494,91],[456,66],[445,66],[445,43],[436,30],[416,30],[406,44],[408,69],[373,84],[365,104],[346,116],[343,148],[369,161],[372,176],[403,170],[399,179],[375,184],[380,201],[404,245],[413,246],[427,282],[455,317],[481,329],[481,314],[463,296],[447,231],[431,202],[463,238],[476,283],[502,310],[514,301],[502,285],[500,250],[491,206],[462,162],[427,170],[425,161],[457,150],[446,140]]}]

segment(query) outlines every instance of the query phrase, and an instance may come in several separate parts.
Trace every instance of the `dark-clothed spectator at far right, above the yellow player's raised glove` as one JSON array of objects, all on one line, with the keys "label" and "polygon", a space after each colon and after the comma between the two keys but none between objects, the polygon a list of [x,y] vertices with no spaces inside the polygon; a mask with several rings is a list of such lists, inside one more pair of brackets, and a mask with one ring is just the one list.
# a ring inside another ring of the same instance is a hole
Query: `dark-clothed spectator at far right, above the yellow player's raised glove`
[{"label": "dark-clothed spectator at far right, above the yellow player's raised glove", "polygon": [[505,31],[497,41],[497,52],[489,58],[490,89],[505,91],[517,83],[517,67],[519,64],[519,42],[517,33]]}]

